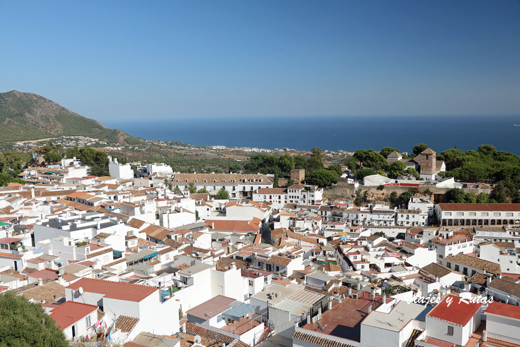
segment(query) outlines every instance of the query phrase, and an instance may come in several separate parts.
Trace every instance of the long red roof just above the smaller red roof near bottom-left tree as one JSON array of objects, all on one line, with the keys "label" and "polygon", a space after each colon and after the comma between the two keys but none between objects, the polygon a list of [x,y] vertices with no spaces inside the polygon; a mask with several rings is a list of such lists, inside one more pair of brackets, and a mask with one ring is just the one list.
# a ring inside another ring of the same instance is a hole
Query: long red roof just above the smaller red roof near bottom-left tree
[{"label": "long red roof just above the smaller red roof near bottom-left tree", "polygon": [[141,301],[158,290],[155,287],[92,278],[82,278],[66,288],[76,290],[80,287],[86,292],[105,294],[105,298],[126,301]]}]

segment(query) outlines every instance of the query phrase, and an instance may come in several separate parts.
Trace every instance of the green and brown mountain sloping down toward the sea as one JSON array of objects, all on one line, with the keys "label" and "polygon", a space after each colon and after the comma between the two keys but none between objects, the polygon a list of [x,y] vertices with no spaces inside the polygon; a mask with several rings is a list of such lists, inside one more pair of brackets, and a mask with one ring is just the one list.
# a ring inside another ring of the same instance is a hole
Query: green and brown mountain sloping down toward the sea
[{"label": "green and brown mountain sloping down toward the sea", "polygon": [[108,144],[140,142],[43,96],[18,91],[0,93],[0,143],[63,135],[94,137]]}]

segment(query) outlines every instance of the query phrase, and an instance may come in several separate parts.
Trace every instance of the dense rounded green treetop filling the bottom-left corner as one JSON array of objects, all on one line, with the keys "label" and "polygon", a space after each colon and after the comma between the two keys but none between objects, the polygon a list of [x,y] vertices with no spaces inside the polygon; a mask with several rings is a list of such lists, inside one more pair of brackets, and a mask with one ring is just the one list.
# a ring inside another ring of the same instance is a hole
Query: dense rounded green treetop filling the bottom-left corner
[{"label": "dense rounded green treetop filling the bottom-left corner", "polygon": [[41,304],[31,303],[14,291],[0,294],[0,323],[0,345],[3,346],[69,345]]}]

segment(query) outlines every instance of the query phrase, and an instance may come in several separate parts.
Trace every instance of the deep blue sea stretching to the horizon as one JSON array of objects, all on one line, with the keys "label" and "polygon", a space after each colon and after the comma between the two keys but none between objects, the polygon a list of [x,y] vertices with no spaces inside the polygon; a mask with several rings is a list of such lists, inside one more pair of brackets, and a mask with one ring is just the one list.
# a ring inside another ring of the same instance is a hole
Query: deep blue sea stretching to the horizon
[{"label": "deep blue sea stretching to the horizon", "polygon": [[103,120],[140,138],[199,146],[356,151],[389,146],[401,152],[425,143],[441,152],[490,144],[520,155],[520,115],[240,117]]}]

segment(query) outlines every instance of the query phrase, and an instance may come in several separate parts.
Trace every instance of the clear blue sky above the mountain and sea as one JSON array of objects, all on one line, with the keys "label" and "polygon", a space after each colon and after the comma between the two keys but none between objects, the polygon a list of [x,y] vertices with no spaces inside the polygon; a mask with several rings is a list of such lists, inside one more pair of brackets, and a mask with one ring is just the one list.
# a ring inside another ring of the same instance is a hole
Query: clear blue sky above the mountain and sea
[{"label": "clear blue sky above the mountain and sea", "polygon": [[1,91],[100,121],[520,113],[519,1],[1,7]]}]

